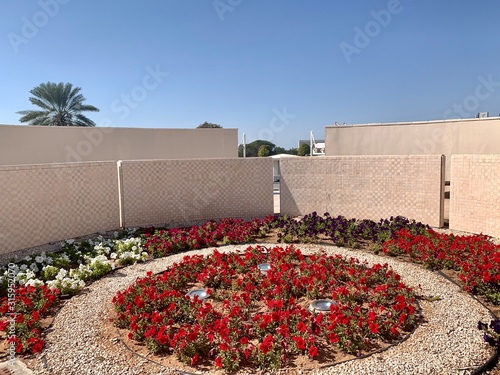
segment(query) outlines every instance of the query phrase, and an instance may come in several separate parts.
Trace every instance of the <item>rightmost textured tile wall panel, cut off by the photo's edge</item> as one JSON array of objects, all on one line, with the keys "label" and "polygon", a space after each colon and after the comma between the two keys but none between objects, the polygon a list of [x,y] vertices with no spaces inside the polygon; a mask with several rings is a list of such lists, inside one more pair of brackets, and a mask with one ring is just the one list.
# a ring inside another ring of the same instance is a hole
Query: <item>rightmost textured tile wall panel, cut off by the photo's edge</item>
[{"label": "rightmost textured tile wall panel, cut off by the photo's edge", "polygon": [[451,157],[450,228],[500,237],[500,155]]}]

